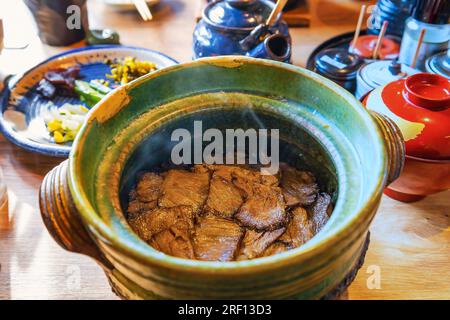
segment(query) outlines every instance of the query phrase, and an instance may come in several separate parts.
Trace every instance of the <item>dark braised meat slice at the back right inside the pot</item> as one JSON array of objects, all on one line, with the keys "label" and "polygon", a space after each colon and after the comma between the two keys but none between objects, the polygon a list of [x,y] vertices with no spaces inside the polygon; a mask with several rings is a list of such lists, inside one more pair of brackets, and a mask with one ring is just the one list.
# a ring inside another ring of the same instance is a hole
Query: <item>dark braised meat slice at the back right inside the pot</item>
[{"label": "dark braised meat slice at the back right inside the pot", "polygon": [[319,191],[314,176],[286,164],[281,165],[281,189],[287,206],[306,206],[316,199]]}]

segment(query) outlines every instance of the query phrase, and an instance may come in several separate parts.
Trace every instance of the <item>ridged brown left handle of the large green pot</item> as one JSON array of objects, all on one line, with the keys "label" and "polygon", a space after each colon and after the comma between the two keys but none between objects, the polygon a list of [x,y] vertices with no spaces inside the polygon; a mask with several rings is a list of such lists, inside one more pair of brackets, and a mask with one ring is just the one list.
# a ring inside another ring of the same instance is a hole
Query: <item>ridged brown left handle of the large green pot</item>
[{"label": "ridged brown left handle of the large green pot", "polygon": [[64,249],[95,259],[105,270],[113,267],[103,256],[82,224],[67,181],[68,160],[53,168],[39,190],[39,207],[44,224]]}]

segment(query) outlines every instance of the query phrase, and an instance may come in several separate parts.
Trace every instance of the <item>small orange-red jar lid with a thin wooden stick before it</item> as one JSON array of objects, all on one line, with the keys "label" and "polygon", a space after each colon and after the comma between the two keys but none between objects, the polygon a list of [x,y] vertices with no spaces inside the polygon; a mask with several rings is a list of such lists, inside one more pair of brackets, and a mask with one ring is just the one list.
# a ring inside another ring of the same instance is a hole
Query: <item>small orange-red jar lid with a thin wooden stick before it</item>
[{"label": "small orange-red jar lid with a thin wooden stick before it", "polygon": [[[375,45],[377,43],[378,36],[375,35],[365,35],[360,36],[358,40],[356,40],[356,45],[353,47],[353,53],[363,57],[372,59],[373,50],[375,49]],[[353,42],[352,44],[353,45]],[[400,45],[389,38],[384,37],[381,41],[381,48],[378,53],[379,59],[397,59],[400,53]]]}]

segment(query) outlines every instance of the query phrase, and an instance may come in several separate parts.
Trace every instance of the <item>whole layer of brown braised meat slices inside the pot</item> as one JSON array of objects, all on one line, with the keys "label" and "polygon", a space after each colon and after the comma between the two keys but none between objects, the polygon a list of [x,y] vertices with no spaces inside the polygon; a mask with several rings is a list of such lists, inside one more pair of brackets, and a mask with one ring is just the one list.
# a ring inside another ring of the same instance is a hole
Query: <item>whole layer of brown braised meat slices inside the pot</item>
[{"label": "whole layer of brown braised meat slices inside the pot", "polygon": [[145,173],[130,192],[128,223],[154,249],[185,259],[248,260],[302,246],[327,223],[331,196],[310,172],[263,169],[196,164]]}]

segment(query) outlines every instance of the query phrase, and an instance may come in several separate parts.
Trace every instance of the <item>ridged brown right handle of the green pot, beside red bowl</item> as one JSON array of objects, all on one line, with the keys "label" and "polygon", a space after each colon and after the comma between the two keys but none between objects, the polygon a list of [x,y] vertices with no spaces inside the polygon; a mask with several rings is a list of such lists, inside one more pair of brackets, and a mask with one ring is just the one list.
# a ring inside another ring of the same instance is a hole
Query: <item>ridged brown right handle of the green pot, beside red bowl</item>
[{"label": "ridged brown right handle of the green pot, beside red bowl", "polygon": [[377,122],[386,144],[388,156],[386,186],[388,186],[400,176],[403,170],[405,164],[405,140],[403,139],[400,128],[394,121],[373,110],[369,110],[369,113]]}]

